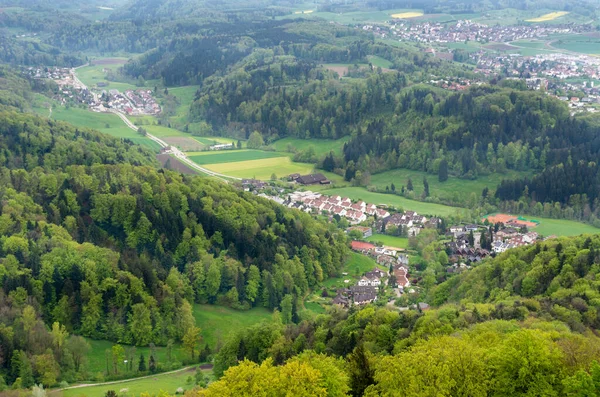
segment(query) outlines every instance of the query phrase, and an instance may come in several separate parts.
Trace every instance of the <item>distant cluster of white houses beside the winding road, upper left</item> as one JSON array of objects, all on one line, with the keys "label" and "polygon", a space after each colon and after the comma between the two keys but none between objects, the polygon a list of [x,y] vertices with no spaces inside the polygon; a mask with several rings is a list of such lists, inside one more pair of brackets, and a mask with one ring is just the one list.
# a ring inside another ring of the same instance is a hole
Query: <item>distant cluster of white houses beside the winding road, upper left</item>
[{"label": "distant cluster of white houses beside the winding road, upper left", "polygon": [[[161,112],[160,105],[156,103],[150,90],[127,90],[125,93],[114,89],[103,90],[101,98],[108,108],[130,116],[156,115]],[[98,106],[104,108],[102,104]]]}]

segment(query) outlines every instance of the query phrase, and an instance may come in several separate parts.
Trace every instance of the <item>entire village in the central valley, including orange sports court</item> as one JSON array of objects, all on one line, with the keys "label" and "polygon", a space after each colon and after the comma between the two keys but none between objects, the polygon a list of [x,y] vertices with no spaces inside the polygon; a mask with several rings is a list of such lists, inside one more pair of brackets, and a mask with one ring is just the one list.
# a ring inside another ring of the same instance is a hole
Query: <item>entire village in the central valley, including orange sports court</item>
[{"label": "entire village in the central valley, including orange sports court", "polygon": [[[383,304],[393,305],[394,300],[403,296],[414,296],[418,300],[420,272],[411,276],[414,264],[406,248],[378,244],[372,240],[374,234],[415,238],[426,229],[436,231],[438,240],[448,256],[444,269],[447,276],[468,271],[486,258],[494,257],[509,249],[532,245],[541,236],[530,229],[537,221],[527,221],[506,214],[490,215],[477,224],[456,224],[445,226],[443,219],[426,216],[411,210],[385,208],[362,200],[353,201],[348,197],[326,195],[310,190],[300,190],[298,185],[320,184],[323,178],[293,176],[291,187],[283,188],[273,183],[246,179],[242,189],[260,197],[275,201],[288,208],[314,215],[327,216],[330,221],[344,220],[345,231],[350,236],[351,249],[372,258],[378,267],[349,277],[342,273],[343,288],[336,289],[331,300],[334,305],[345,308],[354,305],[374,303],[382,298]],[[300,182],[313,182],[303,184]],[[320,182],[315,182],[320,181]],[[548,238],[553,238],[550,236]],[[407,295],[408,294],[408,295]],[[415,301],[419,310],[426,310],[425,303]]]}]

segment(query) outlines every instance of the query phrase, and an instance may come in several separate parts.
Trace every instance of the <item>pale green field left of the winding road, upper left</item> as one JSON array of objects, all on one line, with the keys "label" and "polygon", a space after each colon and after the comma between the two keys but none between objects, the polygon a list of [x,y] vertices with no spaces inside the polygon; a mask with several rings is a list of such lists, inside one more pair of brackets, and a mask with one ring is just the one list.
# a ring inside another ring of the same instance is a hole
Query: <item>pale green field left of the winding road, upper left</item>
[{"label": "pale green field left of the winding road, upper left", "polygon": [[96,113],[73,107],[69,109],[57,107],[52,110],[52,118],[66,121],[78,127],[92,128],[118,138],[126,138],[155,152],[160,150],[158,143],[128,128],[117,115],[111,113]]}]

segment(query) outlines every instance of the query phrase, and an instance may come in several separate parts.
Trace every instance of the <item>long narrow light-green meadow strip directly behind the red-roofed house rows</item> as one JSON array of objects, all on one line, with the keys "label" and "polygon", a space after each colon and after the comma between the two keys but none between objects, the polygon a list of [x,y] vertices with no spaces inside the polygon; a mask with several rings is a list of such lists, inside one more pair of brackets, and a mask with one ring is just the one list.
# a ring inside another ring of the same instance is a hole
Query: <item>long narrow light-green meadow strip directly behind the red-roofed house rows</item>
[{"label": "long narrow light-green meadow strip directly behind the red-roofed house rows", "polygon": [[376,205],[387,205],[403,210],[416,211],[423,215],[437,216],[465,216],[468,214],[466,208],[450,207],[448,205],[425,203],[416,200],[396,196],[393,194],[373,193],[362,187],[345,187],[339,189],[329,189],[323,191],[327,195],[340,195],[342,197],[350,197],[353,200],[364,200],[367,203]]}]

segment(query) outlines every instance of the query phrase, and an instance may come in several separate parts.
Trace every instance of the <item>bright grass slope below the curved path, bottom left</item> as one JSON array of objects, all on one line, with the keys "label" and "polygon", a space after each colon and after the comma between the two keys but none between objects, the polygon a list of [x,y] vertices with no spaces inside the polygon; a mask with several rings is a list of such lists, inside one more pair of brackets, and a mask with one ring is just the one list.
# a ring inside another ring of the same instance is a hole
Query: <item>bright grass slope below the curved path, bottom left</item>
[{"label": "bright grass slope below the curved path, bottom left", "polygon": [[[193,388],[193,384],[188,384],[187,379],[190,376],[193,378],[195,372],[194,369],[189,369],[174,374],[155,375],[146,379],[123,381],[110,385],[69,389],[51,395],[57,397],[104,397],[108,390],[114,390],[119,396],[139,396],[144,392],[155,395],[161,390],[175,395],[180,387],[184,390]],[[211,371],[205,371],[205,375],[211,376]],[[122,389],[127,389],[127,393],[120,393]]]}]

